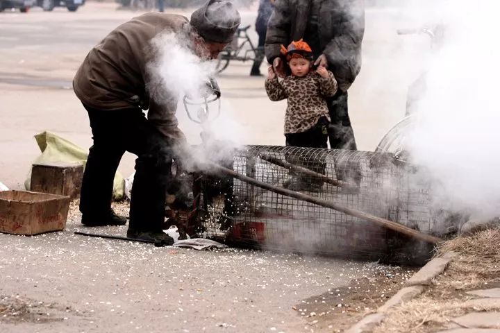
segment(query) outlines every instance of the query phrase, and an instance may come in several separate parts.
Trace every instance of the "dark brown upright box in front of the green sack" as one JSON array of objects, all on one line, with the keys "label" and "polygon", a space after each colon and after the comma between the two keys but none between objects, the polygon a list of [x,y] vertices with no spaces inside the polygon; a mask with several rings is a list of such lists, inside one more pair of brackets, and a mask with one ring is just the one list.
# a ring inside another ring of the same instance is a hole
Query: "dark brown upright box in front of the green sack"
[{"label": "dark brown upright box in front of the green sack", "polygon": [[31,191],[80,197],[83,179],[81,163],[33,164],[31,169]]}]

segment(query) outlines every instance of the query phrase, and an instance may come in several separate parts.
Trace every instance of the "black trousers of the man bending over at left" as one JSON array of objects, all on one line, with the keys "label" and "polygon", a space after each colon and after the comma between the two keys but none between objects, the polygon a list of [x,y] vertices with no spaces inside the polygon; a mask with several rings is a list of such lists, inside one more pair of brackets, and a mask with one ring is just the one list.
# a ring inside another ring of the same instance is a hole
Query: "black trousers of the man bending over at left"
[{"label": "black trousers of the man bending over at left", "polygon": [[103,216],[110,210],[113,178],[125,151],[138,155],[131,194],[129,230],[161,232],[165,197],[172,181],[172,151],[140,108],[97,110],[87,105],[94,144],[83,173],[80,211]]}]

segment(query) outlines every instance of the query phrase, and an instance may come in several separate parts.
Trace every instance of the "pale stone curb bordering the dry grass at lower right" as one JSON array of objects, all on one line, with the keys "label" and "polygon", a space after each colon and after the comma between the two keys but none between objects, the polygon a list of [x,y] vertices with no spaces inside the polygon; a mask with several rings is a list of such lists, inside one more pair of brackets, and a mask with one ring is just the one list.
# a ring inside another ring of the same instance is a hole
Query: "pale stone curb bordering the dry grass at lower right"
[{"label": "pale stone curb bordering the dry grass at lower right", "polygon": [[365,318],[361,319],[355,325],[349,327],[345,333],[367,333],[373,332],[374,328],[382,323],[387,310],[401,305],[403,302],[408,302],[422,293],[426,286],[431,284],[431,281],[440,275],[444,269],[447,268],[449,262],[456,257],[458,253],[449,252],[445,253],[441,257],[436,257],[428,262],[424,267],[420,268],[415,275],[413,275],[410,280],[408,280],[404,285],[403,289],[398,291],[396,295],[392,296],[387,302],[377,309],[374,314],[369,314]]}]

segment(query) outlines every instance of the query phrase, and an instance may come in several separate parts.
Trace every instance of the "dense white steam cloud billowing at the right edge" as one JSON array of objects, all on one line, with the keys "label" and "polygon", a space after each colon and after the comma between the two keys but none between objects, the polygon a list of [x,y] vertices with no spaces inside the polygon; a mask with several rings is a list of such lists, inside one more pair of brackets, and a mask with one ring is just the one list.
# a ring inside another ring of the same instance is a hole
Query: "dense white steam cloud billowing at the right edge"
[{"label": "dense white steam cloud billowing at the right edge", "polygon": [[426,94],[409,140],[413,162],[439,180],[442,205],[498,216],[500,2],[440,4],[434,10],[444,15],[445,41],[428,64]]}]

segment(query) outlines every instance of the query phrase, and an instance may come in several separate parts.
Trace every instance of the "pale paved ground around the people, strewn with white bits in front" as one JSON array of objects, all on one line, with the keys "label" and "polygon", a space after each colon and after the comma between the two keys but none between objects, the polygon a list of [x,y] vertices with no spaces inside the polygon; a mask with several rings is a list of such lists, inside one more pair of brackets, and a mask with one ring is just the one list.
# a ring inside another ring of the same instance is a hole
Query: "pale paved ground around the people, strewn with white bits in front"
[{"label": "pale paved ground around the people, strewn with white bits in front", "polygon": [[[33,135],[50,130],[90,146],[88,119],[71,81],[88,50],[138,14],[115,8],[89,2],[75,13],[0,14],[0,181],[9,187],[22,187],[39,153]],[[255,20],[251,9],[242,10],[244,24]],[[394,34],[403,22],[395,10],[367,12],[363,72],[350,92],[363,150],[372,150],[402,117],[406,86],[418,72],[415,55],[394,60],[409,54]],[[267,99],[264,79],[248,76],[250,65],[232,64],[219,78],[224,119],[240,123],[244,143],[283,144],[285,105]],[[199,128],[183,112],[178,117],[196,142]],[[125,176],[133,158],[126,155],[120,166]],[[31,305],[40,312],[33,320],[44,323],[3,324],[2,332],[299,332],[304,322],[292,305],[363,275],[358,262],[83,240],[72,234],[76,228],[78,218],[57,234],[0,234],[0,296]]]}]

